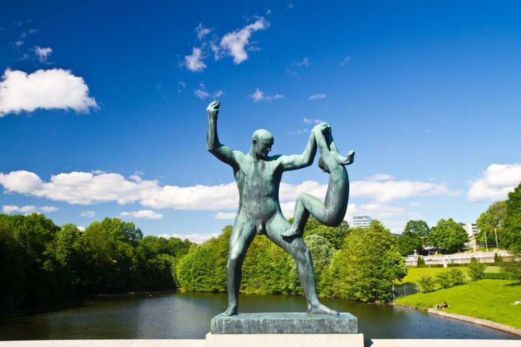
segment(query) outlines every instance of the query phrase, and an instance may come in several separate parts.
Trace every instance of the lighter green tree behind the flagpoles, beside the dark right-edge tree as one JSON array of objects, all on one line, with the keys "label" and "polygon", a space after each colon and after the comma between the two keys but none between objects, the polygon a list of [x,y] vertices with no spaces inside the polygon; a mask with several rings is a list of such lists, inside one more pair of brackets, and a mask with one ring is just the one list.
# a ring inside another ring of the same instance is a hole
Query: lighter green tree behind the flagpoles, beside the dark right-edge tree
[{"label": "lighter green tree behind the flagpoles, beside the dark right-edge tree", "polygon": [[481,245],[485,245],[485,234],[487,235],[487,244],[495,244],[495,232],[497,231],[498,243],[503,247],[503,224],[506,210],[506,201],[494,202],[489,206],[486,212],[479,215],[476,220],[476,226],[479,232],[476,234],[476,240]]}]

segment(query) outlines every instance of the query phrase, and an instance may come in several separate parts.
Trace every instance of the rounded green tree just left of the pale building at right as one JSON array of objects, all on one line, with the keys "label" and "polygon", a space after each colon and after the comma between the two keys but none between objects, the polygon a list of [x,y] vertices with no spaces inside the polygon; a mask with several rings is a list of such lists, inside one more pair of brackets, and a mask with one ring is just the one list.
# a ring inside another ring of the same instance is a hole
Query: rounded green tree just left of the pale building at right
[{"label": "rounded green tree just left of the pale building at right", "polygon": [[465,229],[452,218],[448,220],[441,219],[438,224],[432,228],[429,235],[429,242],[435,247],[445,249],[449,253],[460,251],[465,242],[468,242],[468,235]]}]

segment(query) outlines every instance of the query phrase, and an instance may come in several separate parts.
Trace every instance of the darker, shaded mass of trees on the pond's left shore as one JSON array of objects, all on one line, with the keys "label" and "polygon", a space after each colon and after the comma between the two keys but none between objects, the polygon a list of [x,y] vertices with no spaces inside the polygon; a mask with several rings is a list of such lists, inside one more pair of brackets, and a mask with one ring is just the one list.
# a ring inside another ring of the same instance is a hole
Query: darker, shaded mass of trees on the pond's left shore
[{"label": "darker, shaded mass of trees on the pond's left shore", "polygon": [[42,214],[0,214],[0,307],[106,293],[175,288],[173,269],[188,240],[143,238],[117,218],[81,232]]}]

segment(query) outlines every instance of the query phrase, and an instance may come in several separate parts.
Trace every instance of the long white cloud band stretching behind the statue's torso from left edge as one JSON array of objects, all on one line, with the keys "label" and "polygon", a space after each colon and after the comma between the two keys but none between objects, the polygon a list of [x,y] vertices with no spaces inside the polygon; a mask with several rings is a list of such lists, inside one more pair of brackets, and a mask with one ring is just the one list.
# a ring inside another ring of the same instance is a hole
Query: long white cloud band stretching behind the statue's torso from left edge
[{"label": "long white cloud band stretching behind the statue's torso from left edge", "polygon": [[[133,177],[133,178],[132,178]],[[215,186],[196,185],[192,187],[160,186],[156,180],[137,179],[134,175],[127,179],[120,174],[90,172],[61,173],[51,176],[49,182],[28,171],[0,173],[0,184],[5,192],[65,201],[71,204],[90,205],[116,201],[119,204],[139,202],[152,208],[172,208],[175,210],[222,211],[236,210],[239,194],[235,182]],[[327,184],[304,181],[299,185],[280,184],[280,201],[295,201],[300,193],[307,193],[324,199]],[[351,198],[366,198],[374,204],[386,204],[394,200],[415,196],[457,195],[444,184],[396,181],[392,176],[377,174],[363,181],[350,184]]]}]

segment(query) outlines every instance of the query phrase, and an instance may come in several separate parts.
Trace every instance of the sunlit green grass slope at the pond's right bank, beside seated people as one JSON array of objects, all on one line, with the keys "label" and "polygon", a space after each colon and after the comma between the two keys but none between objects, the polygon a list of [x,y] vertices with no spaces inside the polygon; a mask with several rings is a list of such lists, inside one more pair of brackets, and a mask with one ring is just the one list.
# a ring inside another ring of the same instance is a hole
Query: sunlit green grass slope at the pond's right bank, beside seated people
[{"label": "sunlit green grass slope at the pond's right bank, beside seated people", "polygon": [[521,329],[521,305],[511,305],[516,300],[521,301],[519,281],[482,279],[448,289],[396,299],[396,304],[428,309],[435,308],[436,304],[445,301],[449,307],[443,311],[448,313],[488,319]]}]

